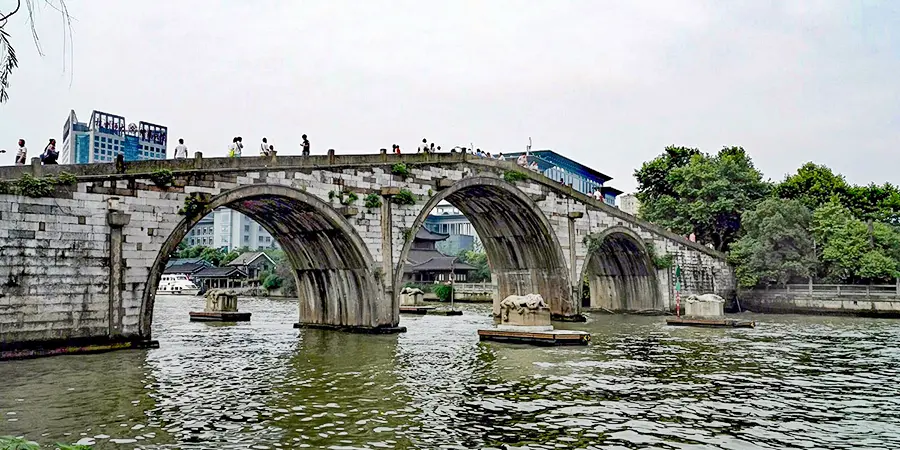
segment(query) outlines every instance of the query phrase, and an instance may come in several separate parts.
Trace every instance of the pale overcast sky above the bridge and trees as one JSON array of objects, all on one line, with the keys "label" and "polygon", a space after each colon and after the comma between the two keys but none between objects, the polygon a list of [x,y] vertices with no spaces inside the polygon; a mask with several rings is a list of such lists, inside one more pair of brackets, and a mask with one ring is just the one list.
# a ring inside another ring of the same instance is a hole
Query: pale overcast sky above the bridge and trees
[{"label": "pale overcast sky above the bridge and trees", "polygon": [[[0,0],[5,11],[15,3]],[[66,114],[169,127],[191,151],[404,151],[423,137],[519,151],[528,137],[632,191],[676,144],[746,148],[767,177],[806,161],[900,182],[900,2],[67,0],[6,29],[20,69],[0,164]],[[64,64],[65,63],[65,64]]]}]

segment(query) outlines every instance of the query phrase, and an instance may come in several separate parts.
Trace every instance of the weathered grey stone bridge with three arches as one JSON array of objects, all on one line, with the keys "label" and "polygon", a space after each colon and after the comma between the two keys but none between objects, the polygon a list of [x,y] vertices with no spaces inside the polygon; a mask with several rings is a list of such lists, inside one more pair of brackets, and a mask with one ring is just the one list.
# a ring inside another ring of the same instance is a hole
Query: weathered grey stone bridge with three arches
[{"label": "weathered grey stone bridge with three arches", "polygon": [[[398,164],[407,173],[395,174]],[[43,197],[0,184],[7,352],[149,342],[169,255],[219,206],[251,217],[284,249],[307,326],[397,330],[410,237],[442,200],[481,236],[500,296],[540,293],[557,320],[575,320],[583,307],[674,308],[664,260],[682,267],[685,294],[726,296],[734,287],[724,255],[511,162],[466,153],[35,161],[0,167],[0,180],[62,172],[77,181],[59,177],[70,183]]]}]

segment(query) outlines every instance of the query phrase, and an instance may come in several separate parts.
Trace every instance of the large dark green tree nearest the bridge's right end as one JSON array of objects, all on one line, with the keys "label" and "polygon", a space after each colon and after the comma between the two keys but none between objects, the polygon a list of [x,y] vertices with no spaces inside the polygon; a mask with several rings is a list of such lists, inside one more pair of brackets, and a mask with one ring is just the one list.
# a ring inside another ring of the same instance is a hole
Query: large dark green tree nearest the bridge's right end
[{"label": "large dark green tree nearest the bridge's right end", "polygon": [[[741,214],[753,209],[771,186],[741,147],[723,148],[715,156],[695,153],[685,165],[678,165],[681,156],[672,158],[670,149],[666,151],[635,173],[641,216],[676,233],[694,233],[699,242],[719,251],[727,250],[740,231]],[[647,170],[648,164],[652,170]],[[655,174],[660,170],[657,166],[674,168],[660,178],[662,174]],[[648,173],[654,175],[648,177]]]}]

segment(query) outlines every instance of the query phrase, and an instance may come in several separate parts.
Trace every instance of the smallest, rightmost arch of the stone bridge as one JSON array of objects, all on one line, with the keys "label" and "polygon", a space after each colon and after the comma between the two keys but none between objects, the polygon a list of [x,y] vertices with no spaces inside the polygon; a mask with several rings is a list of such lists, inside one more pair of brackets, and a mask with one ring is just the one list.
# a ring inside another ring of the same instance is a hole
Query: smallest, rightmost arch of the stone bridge
[{"label": "smallest, rightmost arch of the stone bridge", "polygon": [[637,233],[613,226],[589,235],[587,242],[580,280],[587,280],[590,286],[591,307],[610,311],[665,309],[656,267]]}]

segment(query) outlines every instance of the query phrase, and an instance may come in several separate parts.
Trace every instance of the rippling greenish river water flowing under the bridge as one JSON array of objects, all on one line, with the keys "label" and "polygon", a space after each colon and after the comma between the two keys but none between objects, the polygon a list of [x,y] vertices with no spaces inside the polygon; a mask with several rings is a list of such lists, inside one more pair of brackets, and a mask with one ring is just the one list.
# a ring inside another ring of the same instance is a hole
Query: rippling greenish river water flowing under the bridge
[{"label": "rippling greenish river water flowing under the bridge", "polygon": [[0,363],[0,435],[95,448],[898,448],[900,322],[755,316],[752,330],[593,316],[588,347],[479,343],[490,307],[392,336],[297,331],[294,302],[161,348]]}]

